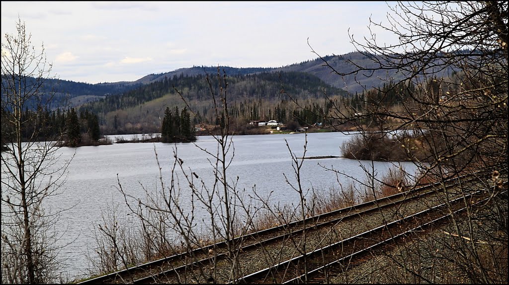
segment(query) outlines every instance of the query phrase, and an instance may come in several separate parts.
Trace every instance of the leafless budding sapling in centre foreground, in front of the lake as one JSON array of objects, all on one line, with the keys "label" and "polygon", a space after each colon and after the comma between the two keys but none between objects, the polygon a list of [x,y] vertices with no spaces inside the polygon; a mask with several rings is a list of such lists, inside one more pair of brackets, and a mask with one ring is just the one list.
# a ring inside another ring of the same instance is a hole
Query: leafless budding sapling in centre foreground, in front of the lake
[{"label": "leafless budding sapling in centre foreground, in front of the lake", "polygon": [[[207,268],[191,270],[189,267],[176,282],[233,281],[242,275],[244,265],[239,262],[243,242],[241,237],[254,227],[253,216],[257,209],[243,196],[244,191],[237,189],[239,177],[237,180],[230,178],[229,168],[235,149],[229,129],[226,75],[221,77],[218,69],[216,77],[207,76],[207,82],[215,117],[219,122],[215,129],[208,131],[217,142],[217,148],[210,150],[198,144],[194,145],[207,154],[213,180],[204,180],[201,174],[186,167],[178,155],[177,145],[169,175],[163,175],[154,147],[160,188],[147,189],[142,185],[146,193],[146,197],[142,199],[127,193],[119,180],[119,189],[125,198],[128,212],[138,219],[136,227],[139,227],[132,229],[132,236],[124,234],[117,226],[117,222],[122,219],[116,216],[113,208],[109,209],[109,213],[106,213],[109,216],[103,218],[103,223],[97,225],[99,231],[95,231],[97,246],[94,250],[99,260],[90,258],[95,270],[99,268],[102,273],[116,270],[120,266],[127,268],[128,263],[146,262],[176,252],[189,254],[182,260],[187,265],[190,261],[199,259],[193,250],[199,248],[207,255]],[[177,89],[176,91],[189,110],[192,110],[181,92]],[[215,246],[219,242],[224,242],[227,247],[225,259],[228,269],[218,273],[218,250]],[[133,244],[139,246],[133,248]],[[208,245],[211,244],[214,246],[209,248]],[[139,250],[140,248],[142,249]]]}]

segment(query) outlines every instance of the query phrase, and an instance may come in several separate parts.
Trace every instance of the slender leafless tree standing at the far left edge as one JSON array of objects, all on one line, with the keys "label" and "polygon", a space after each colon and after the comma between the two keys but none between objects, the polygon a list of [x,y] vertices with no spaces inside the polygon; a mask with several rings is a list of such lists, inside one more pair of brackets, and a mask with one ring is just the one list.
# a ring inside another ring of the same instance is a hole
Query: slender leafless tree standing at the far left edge
[{"label": "slender leafless tree standing at the far left edge", "polygon": [[42,130],[34,122],[53,99],[42,91],[51,65],[44,46],[40,52],[32,46],[21,20],[16,28],[16,35],[2,40],[2,142],[7,146],[2,150],[2,282],[55,282],[60,246],[53,230],[59,212],[48,212],[43,202],[58,194],[70,161],[59,163],[55,142],[60,135],[38,141]]}]

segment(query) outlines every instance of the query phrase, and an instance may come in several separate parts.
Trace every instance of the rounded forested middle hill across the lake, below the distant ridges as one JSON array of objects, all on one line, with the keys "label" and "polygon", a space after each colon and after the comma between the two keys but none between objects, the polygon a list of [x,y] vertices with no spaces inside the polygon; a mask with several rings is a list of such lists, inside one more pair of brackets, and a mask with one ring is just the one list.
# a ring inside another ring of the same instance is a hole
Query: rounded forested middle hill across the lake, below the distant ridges
[{"label": "rounded forested middle hill across the lake, below the distant ridges", "polygon": [[[217,69],[216,69],[217,73]],[[217,78],[205,75],[164,77],[160,81],[140,86],[119,95],[84,104],[81,110],[98,114],[104,134],[160,132],[166,107],[185,107],[189,104],[194,124],[216,124],[209,86],[217,94]],[[292,102],[309,106],[309,110],[323,112],[327,108],[324,94],[344,97],[347,92],[332,87],[320,78],[300,72],[263,72],[249,75],[227,76],[229,109],[234,125],[246,125],[250,120],[277,120],[288,122],[315,120]],[[284,91],[283,91],[284,90]],[[318,99],[322,98],[322,99]],[[316,119],[318,116],[315,116]]]}]

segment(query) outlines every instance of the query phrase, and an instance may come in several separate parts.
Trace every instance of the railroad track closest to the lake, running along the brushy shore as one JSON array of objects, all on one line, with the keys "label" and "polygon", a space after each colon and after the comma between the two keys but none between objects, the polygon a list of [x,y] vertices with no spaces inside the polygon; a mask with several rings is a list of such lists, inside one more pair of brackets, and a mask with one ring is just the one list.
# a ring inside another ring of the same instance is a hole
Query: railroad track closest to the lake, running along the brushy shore
[{"label": "railroad track closest to the lake, running along the brushy shore", "polygon": [[[474,179],[474,178],[473,178]],[[453,182],[453,181],[451,181]],[[376,201],[366,202],[351,207],[335,210],[314,217],[309,217],[302,221],[270,228],[264,231],[244,235],[235,239],[233,242],[241,243],[243,246],[239,249],[242,252],[257,250],[268,244],[277,244],[288,241],[290,238],[296,239],[304,232],[303,225],[306,225],[306,233],[318,231],[326,227],[344,222],[348,219],[354,219],[364,216],[383,208],[399,207],[402,203],[410,202],[422,197],[433,195],[436,184],[430,184],[424,187],[413,189],[413,191],[404,192],[389,197],[377,199]],[[451,183],[448,187],[454,187]],[[110,273],[104,276],[96,277],[79,284],[98,284],[98,283],[154,283],[161,280],[173,280],[174,282],[189,282],[190,279],[181,279],[190,271],[199,272],[197,275],[206,276],[204,271],[200,271],[203,266],[210,264],[213,258],[215,262],[227,259],[225,248],[227,243],[220,242],[201,248],[196,248],[187,252],[182,252],[164,259],[156,260],[146,264],[134,266],[125,270]],[[211,250],[214,252],[210,254]],[[173,278],[173,279],[172,279]],[[184,277],[186,278],[186,277]],[[206,279],[193,279],[194,282],[206,282]]]}]

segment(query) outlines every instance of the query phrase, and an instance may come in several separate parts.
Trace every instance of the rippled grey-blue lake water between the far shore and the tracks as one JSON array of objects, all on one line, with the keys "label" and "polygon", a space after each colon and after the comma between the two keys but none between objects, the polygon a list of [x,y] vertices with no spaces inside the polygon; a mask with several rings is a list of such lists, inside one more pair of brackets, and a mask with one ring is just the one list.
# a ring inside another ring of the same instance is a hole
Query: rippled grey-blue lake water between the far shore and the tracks
[{"label": "rippled grey-blue lake water between the far shore and the tracks", "polygon": [[[110,138],[116,137],[121,136]],[[340,146],[350,137],[351,135],[343,133],[310,133],[307,135],[305,156],[339,156]],[[248,193],[256,185],[256,192],[262,197],[267,197],[273,191],[270,200],[273,205],[278,203],[297,205],[298,193],[284,177],[285,174],[290,182],[296,182],[291,155],[285,140],[296,156],[302,156],[305,134],[234,136],[234,157],[227,174],[229,181],[235,180],[238,176],[237,189],[246,189]],[[217,142],[213,137],[201,136],[196,144],[212,153],[217,151]],[[163,179],[169,180],[174,162],[173,154],[177,151],[178,157],[184,161],[185,168],[190,168],[199,175],[209,187],[213,183],[213,168],[207,160],[212,157],[194,144],[127,143],[76,149],[62,148],[60,151],[61,160],[68,159],[74,153],[75,156],[69,166],[68,179],[62,189],[63,194],[51,197],[45,205],[52,211],[75,205],[63,212],[59,220],[59,230],[66,231],[60,243],[72,241],[61,251],[60,257],[67,259],[66,271],[73,277],[84,276],[87,272],[86,253],[93,252],[95,239],[91,232],[93,223],[101,220],[101,210],[108,205],[116,204],[125,208],[117,174],[126,193],[143,198],[144,187],[148,191],[160,188],[155,152],[162,168]],[[337,188],[336,174],[326,171],[322,166],[363,180],[365,174],[361,165],[370,168],[371,162],[341,158],[304,160],[301,169],[302,185],[304,189],[313,187],[317,191]],[[409,173],[415,172],[413,164],[402,165]],[[374,164],[380,177],[391,166],[392,163]],[[340,181],[347,182],[347,179],[340,177]],[[184,193],[185,186],[182,187]],[[183,195],[185,196],[185,193]]]}]

